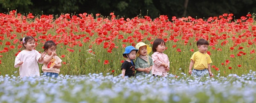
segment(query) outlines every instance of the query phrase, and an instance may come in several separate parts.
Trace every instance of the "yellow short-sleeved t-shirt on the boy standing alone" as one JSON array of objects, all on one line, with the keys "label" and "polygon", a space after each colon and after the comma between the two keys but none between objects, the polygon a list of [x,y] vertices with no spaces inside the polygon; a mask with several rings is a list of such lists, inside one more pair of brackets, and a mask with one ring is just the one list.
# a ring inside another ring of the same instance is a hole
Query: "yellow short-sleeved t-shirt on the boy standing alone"
[{"label": "yellow short-sleeved t-shirt on the boy standing alone", "polygon": [[194,69],[204,70],[208,68],[208,64],[212,63],[212,59],[207,53],[200,53],[199,51],[193,53],[190,60],[194,61]]}]

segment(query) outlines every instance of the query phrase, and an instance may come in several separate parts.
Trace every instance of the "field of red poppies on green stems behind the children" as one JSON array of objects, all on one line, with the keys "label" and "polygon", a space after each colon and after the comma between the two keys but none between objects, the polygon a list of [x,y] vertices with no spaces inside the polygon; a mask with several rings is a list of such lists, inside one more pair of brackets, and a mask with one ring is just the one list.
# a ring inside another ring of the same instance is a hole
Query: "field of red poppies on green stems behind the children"
[{"label": "field of red poppies on green stems behind the children", "polygon": [[0,13],[0,21],[0,75],[19,75],[14,61],[23,50],[18,39],[24,36],[34,36],[39,52],[44,51],[44,42],[53,40],[63,61],[60,68],[63,75],[100,72],[119,75],[126,46],[144,42],[152,47],[157,38],[166,42],[164,53],[169,56],[171,74],[188,74],[190,57],[198,50],[196,41],[201,38],[209,42],[207,53],[212,59],[214,75],[256,71],[256,14],[236,18],[233,14],[223,14],[207,19],[165,15],[156,19],[148,16],[125,19],[113,13],[109,17],[87,13],[57,17],[10,11]]}]

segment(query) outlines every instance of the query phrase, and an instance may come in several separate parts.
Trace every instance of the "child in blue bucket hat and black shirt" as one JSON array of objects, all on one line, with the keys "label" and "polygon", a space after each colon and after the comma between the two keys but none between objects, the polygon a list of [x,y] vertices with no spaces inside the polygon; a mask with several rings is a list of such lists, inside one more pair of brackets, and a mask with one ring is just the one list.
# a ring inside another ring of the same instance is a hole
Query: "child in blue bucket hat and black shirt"
[{"label": "child in blue bucket hat and black shirt", "polygon": [[134,70],[134,59],[136,57],[137,49],[135,49],[133,46],[127,46],[125,47],[125,52],[123,53],[123,56],[127,58],[121,66],[122,70],[122,78],[125,78],[125,76],[128,76],[129,78],[134,77],[135,70]]}]

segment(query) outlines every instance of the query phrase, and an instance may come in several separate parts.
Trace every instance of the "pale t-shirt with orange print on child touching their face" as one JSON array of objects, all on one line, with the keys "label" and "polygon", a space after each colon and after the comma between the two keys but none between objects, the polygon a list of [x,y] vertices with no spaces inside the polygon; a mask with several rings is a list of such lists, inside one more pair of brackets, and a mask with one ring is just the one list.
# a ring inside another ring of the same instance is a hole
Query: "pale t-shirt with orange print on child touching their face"
[{"label": "pale t-shirt with orange print on child touching their face", "polygon": [[[44,56],[44,59],[49,58],[50,55],[46,55]],[[43,67],[42,67],[42,71],[43,72],[54,72],[54,73],[60,73],[60,69],[59,68],[53,68],[52,66],[54,64],[60,64],[61,63],[61,58],[59,58],[58,56],[53,56],[52,59],[49,61],[49,63],[44,63]]]}]

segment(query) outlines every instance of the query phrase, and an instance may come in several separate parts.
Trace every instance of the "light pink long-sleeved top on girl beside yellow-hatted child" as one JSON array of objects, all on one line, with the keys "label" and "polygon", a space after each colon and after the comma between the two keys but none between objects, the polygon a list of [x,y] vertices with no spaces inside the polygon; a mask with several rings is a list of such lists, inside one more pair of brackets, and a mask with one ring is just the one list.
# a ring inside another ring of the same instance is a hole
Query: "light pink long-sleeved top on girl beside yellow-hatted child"
[{"label": "light pink long-sleeved top on girl beside yellow-hatted child", "polygon": [[166,69],[164,66],[160,66],[162,63],[168,64],[168,67],[170,68],[170,61],[166,54],[154,52],[151,56],[152,60],[154,61],[154,65],[152,67],[152,74],[154,72],[166,72]]}]

